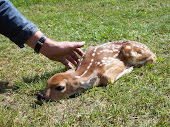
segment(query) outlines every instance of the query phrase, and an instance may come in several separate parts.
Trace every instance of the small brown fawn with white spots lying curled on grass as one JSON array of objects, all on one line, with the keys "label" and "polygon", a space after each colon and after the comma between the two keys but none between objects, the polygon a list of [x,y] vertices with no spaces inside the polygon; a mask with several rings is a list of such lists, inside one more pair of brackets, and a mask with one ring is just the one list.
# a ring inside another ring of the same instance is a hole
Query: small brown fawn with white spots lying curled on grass
[{"label": "small brown fawn with white spots lying curled on grass", "polygon": [[76,69],[55,74],[47,81],[38,99],[55,101],[94,86],[105,86],[132,72],[133,67],[155,62],[153,52],[139,42],[113,41],[90,46]]}]

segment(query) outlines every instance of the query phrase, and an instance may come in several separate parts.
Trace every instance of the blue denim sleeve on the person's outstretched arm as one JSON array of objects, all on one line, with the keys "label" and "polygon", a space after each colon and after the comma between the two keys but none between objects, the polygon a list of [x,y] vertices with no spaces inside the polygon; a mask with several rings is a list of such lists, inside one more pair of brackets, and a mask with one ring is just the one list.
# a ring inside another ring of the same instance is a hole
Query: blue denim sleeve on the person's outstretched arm
[{"label": "blue denim sleeve on the person's outstretched arm", "polygon": [[27,20],[9,0],[0,0],[0,33],[19,47],[36,32],[38,28]]}]

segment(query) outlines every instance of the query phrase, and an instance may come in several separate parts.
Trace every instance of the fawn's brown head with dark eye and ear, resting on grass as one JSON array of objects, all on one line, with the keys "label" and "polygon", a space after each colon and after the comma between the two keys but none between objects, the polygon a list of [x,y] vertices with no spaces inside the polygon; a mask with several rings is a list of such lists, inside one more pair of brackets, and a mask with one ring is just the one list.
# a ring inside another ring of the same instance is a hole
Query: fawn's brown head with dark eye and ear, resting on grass
[{"label": "fawn's brown head with dark eye and ear, resting on grass", "polygon": [[80,93],[85,89],[93,87],[97,77],[88,79],[72,77],[71,73],[59,73],[52,76],[47,81],[47,87],[38,94],[38,100],[56,101],[75,93]]}]

